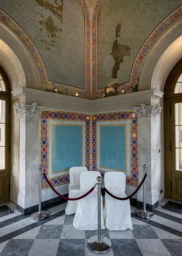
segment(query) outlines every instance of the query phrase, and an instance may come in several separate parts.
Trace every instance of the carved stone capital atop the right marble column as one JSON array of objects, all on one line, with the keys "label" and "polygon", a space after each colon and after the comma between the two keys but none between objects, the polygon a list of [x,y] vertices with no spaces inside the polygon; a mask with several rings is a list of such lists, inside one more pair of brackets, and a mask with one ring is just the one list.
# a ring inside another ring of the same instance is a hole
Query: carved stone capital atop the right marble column
[{"label": "carved stone capital atop the right marble column", "polygon": [[145,104],[141,104],[140,107],[134,107],[133,109],[139,117],[146,117],[160,114],[162,107],[160,107],[160,104],[156,104],[155,106],[146,106]]}]

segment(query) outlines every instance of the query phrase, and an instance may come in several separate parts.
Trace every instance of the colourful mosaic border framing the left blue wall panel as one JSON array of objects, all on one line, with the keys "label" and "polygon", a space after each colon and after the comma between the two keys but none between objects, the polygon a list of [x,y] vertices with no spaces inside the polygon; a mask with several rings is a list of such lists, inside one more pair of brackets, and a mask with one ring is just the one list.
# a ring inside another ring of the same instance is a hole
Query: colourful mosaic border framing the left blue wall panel
[{"label": "colourful mosaic border framing the left blue wall panel", "polygon": [[[55,120],[77,120],[85,121],[85,164],[88,170],[90,170],[90,115],[78,114],[78,113],[68,113],[68,112],[59,112],[46,110],[43,111],[40,115],[40,163],[42,164],[42,171],[47,175],[48,169],[48,128],[47,121],[49,119]],[[63,175],[57,178],[52,178],[49,180],[52,186],[58,186],[69,182],[69,175]],[[44,176],[42,176],[42,189],[48,188],[49,185],[45,181]]]}]

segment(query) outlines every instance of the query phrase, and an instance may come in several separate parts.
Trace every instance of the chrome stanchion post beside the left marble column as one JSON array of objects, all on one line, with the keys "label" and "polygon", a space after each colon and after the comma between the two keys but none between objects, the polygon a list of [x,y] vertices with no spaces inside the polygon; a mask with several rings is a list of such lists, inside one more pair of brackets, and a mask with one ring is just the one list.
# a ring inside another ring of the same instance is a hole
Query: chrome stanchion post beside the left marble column
[{"label": "chrome stanchion post beside the left marble column", "polygon": [[43,220],[49,216],[48,211],[41,210],[41,175],[42,175],[42,165],[40,164],[39,165],[39,211],[31,214],[31,218],[36,221]]}]

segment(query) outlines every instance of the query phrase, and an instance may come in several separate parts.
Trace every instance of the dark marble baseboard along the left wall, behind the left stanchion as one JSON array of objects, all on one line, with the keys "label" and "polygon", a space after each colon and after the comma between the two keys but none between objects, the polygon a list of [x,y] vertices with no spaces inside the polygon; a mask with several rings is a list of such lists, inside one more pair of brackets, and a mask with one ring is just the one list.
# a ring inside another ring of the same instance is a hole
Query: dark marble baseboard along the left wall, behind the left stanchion
[{"label": "dark marble baseboard along the left wall, behind the left stanchion", "polygon": [[[64,196],[68,197],[68,194],[65,194]],[[62,204],[65,202],[67,202],[65,199],[62,199],[61,197],[58,196],[42,202],[41,207],[42,207],[42,210],[46,210],[46,208],[50,208],[50,206],[54,207],[54,206],[57,206],[58,204]],[[37,211],[39,209],[39,205],[36,204],[34,206],[23,209],[19,204],[17,204],[17,209],[22,213],[22,215],[28,215],[34,211]]]}]

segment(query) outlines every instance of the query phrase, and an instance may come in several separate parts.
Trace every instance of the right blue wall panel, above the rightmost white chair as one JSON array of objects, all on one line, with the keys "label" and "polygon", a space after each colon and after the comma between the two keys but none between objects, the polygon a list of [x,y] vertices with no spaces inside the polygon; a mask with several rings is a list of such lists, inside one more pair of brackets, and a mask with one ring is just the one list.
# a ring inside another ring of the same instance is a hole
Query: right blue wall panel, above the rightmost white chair
[{"label": "right blue wall panel, above the rightmost white chair", "polygon": [[126,170],[125,125],[100,126],[100,165]]}]

